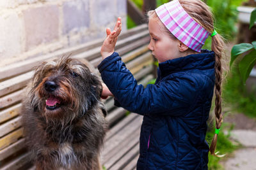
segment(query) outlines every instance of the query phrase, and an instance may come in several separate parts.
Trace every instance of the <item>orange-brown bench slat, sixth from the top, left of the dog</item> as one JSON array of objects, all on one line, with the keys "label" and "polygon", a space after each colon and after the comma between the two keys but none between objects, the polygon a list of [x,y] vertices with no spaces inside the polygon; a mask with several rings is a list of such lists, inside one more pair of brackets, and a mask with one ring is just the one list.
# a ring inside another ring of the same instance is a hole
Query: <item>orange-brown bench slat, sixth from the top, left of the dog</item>
[{"label": "orange-brown bench slat, sixth from the top, left of the dog", "polygon": [[2,150],[3,148],[6,148],[9,145],[12,145],[19,138],[22,138],[22,137],[23,137],[23,127],[4,136],[3,138],[0,138],[0,150]]}]

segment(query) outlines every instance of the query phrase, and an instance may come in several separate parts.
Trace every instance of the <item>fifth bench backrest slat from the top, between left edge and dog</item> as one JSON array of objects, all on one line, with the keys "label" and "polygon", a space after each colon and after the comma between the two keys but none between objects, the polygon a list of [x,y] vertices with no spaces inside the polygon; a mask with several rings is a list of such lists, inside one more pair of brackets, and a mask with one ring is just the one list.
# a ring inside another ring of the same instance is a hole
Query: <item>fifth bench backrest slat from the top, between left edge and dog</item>
[{"label": "fifth bench backrest slat from the top, between left edge and dog", "polygon": [[13,118],[5,124],[0,125],[0,138],[20,127],[20,119],[21,117]]}]

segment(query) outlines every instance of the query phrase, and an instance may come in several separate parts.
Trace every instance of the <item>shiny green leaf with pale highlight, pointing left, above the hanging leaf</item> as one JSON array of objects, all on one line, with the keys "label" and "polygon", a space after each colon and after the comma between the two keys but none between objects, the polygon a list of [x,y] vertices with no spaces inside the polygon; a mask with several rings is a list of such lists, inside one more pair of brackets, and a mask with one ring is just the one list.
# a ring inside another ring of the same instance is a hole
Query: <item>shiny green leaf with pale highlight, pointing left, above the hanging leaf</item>
[{"label": "shiny green leaf with pale highlight, pointing left, above the hanging leaf", "polygon": [[241,53],[247,52],[248,50],[251,50],[253,48],[253,45],[249,43],[241,43],[239,45],[234,45],[231,50],[231,59],[230,59],[230,67],[232,66],[232,63],[237,58],[237,56]]}]

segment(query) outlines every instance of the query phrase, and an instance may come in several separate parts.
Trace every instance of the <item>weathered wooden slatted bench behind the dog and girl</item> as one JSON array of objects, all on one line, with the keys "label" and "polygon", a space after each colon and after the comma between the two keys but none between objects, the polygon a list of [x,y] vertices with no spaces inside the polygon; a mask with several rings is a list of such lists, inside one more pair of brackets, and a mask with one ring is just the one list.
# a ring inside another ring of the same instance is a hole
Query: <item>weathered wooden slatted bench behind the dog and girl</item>
[{"label": "weathered wooden slatted bench behind the dog and girl", "polygon": [[[149,41],[147,25],[140,25],[122,32],[116,44],[116,51],[136,80],[143,85],[154,78],[153,57],[147,48]],[[0,169],[35,168],[29,162],[29,153],[24,147],[23,129],[20,124],[22,92],[33,75],[33,67],[42,61],[70,53],[72,57],[87,59],[96,67],[102,60],[102,42],[103,39],[97,39],[0,68]],[[134,169],[139,153],[142,117],[134,113],[128,115],[123,108],[116,108],[111,97],[104,103],[108,108],[109,131],[101,162],[106,169]]]}]

